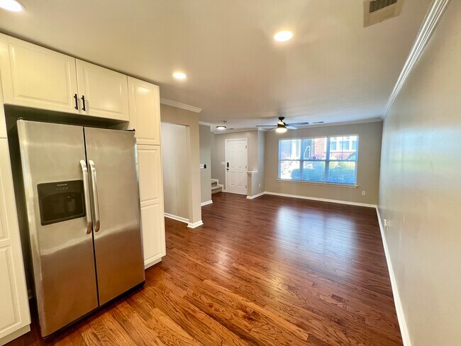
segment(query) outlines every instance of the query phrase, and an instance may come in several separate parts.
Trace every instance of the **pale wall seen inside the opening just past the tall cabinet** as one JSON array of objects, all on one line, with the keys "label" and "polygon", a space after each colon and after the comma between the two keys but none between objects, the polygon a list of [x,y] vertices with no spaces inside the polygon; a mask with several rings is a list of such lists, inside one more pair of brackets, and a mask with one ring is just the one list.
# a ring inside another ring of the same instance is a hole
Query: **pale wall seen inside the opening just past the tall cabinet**
[{"label": "pale wall seen inside the opening just past the tall cabinet", "polygon": [[162,169],[165,213],[189,220],[189,165],[184,125],[162,123]]}]

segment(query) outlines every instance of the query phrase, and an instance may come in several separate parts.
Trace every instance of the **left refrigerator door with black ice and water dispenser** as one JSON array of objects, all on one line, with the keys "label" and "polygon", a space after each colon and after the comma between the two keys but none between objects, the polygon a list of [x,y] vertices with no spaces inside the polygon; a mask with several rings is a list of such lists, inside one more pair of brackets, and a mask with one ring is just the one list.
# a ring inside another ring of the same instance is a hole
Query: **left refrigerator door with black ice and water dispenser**
[{"label": "left refrigerator door with black ice and water dispenser", "polygon": [[18,135],[40,330],[46,336],[98,306],[84,191],[89,186],[80,162],[84,133],[79,126],[20,120]]}]

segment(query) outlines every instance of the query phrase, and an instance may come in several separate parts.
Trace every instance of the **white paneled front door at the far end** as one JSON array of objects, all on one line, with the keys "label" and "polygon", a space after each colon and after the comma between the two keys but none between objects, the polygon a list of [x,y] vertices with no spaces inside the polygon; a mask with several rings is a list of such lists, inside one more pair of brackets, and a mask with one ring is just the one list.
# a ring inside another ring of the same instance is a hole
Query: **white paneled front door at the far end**
[{"label": "white paneled front door at the far end", "polygon": [[247,194],[247,139],[226,140],[226,191]]}]

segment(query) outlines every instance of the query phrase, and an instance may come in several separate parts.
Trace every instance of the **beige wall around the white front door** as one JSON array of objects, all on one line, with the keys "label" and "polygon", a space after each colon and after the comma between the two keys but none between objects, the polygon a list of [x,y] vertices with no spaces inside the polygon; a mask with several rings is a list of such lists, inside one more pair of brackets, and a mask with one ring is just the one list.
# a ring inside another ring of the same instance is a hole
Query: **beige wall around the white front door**
[{"label": "beige wall around the white front door", "polygon": [[[213,144],[211,145],[211,177],[219,179],[219,184],[223,184],[224,189],[226,189],[226,166],[221,164],[221,162],[226,161],[226,140],[248,138],[248,171],[258,171],[258,132],[244,131],[213,135]],[[262,180],[261,173],[258,171],[257,174],[253,174],[252,179],[256,179],[257,181]],[[251,187],[248,185],[249,195],[252,193],[250,190]]]}]

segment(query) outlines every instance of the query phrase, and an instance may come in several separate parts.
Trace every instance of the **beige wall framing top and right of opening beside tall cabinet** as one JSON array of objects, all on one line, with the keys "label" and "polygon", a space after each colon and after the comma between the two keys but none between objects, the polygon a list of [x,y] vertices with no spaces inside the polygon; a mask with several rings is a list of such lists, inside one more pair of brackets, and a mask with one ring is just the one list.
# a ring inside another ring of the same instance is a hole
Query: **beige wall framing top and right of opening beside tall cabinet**
[{"label": "beige wall framing top and right of opening beside tall cabinet", "polygon": [[[199,113],[182,108],[160,105],[162,123],[186,125],[189,127],[187,138],[187,157],[189,158],[189,222],[201,221],[201,189],[200,189],[200,145],[199,145]],[[164,175],[167,172],[164,171]]]}]

